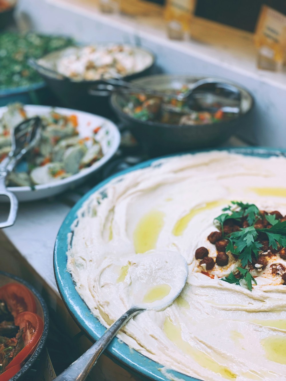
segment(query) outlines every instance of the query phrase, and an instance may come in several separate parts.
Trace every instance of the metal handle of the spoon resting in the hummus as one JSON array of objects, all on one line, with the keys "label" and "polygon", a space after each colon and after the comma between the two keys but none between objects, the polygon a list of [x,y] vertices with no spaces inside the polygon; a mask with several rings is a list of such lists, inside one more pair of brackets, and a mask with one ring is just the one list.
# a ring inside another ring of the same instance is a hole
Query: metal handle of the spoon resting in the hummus
[{"label": "metal handle of the spoon resting in the hummus", "polygon": [[116,336],[117,332],[130,320],[133,316],[145,311],[138,307],[131,307],[123,314],[112,326],[101,336],[92,347],[90,347],[83,355],[73,362],[66,370],[63,371],[55,381],[83,381],[93,365],[111,340]]}]

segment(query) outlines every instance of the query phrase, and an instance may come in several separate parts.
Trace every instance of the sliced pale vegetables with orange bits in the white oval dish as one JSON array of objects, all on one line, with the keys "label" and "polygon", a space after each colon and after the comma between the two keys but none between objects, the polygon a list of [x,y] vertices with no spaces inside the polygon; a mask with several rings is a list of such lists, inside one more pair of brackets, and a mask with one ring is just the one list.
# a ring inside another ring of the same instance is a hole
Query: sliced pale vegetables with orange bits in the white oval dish
[{"label": "sliced pale vegetables with orange bits in the white oval dish", "polygon": [[[42,120],[39,144],[26,156],[25,165],[20,165],[8,175],[9,186],[35,186],[64,179],[91,166],[103,157],[101,144],[96,134],[80,137],[77,115],[62,115],[54,110],[48,115],[39,115]],[[21,104],[12,104],[0,120],[0,162],[11,149],[11,131],[27,118]]]}]

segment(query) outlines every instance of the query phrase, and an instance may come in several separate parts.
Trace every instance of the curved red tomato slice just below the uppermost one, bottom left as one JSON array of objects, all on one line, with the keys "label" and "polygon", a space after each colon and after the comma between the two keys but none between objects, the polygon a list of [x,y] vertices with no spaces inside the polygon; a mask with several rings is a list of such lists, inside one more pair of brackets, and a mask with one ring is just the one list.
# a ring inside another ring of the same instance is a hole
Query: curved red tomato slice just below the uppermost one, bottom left
[{"label": "curved red tomato slice just below the uppermost one, bottom left", "polygon": [[22,365],[24,360],[34,353],[37,344],[42,337],[44,328],[43,320],[40,316],[34,314],[33,312],[22,312],[15,317],[14,321],[15,325],[19,325],[20,329],[24,329],[23,339],[25,346],[22,351],[20,351],[18,355],[16,355],[16,357],[14,357],[14,359],[7,365],[6,370],[10,369],[14,365]]}]

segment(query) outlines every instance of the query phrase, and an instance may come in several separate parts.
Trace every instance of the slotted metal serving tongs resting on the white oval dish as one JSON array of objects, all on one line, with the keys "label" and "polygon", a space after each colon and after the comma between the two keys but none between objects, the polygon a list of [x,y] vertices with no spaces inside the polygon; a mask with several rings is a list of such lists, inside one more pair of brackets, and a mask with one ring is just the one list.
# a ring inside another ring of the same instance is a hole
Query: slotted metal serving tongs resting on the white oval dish
[{"label": "slotted metal serving tongs resting on the white oval dish", "polygon": [[33,117],[19,123],[11,131],[11,151],[0,163],[0,196],[9,197],[10,211],[7,221],[0,223],[0,228],[13,225],[18,210],[18,200],[16,196],[6,188],[6,177],[21,158],[37,144],[40,139],[41,125],[41,119],[39,117]]}]

